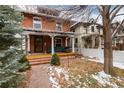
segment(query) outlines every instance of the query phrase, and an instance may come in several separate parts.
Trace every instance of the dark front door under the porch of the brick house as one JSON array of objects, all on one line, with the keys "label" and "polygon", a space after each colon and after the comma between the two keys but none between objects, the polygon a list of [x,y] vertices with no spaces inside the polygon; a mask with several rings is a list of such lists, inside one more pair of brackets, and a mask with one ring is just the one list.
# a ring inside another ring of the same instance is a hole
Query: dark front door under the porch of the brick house
[{"label": "dark front door under the porch of the brick house", "polygon": [[43,38],[42,36],[35,36],[35,40],[34,40],[34,44],[35,44],[35,52],[43,52]]}]

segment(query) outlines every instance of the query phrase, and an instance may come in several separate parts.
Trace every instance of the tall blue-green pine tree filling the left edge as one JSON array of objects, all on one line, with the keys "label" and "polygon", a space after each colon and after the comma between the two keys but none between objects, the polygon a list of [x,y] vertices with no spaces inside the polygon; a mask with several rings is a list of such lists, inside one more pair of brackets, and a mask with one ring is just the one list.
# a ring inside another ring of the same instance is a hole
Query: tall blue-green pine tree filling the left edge
[{"label": "tall blue-green pine tree filling the left edge", "polygon": [[15,6],[0,6],[0,87],[17,87],[22,80],[19,70],[26,67],[20,62],[24,57],[20,50],[21,21],[23,16]]}]

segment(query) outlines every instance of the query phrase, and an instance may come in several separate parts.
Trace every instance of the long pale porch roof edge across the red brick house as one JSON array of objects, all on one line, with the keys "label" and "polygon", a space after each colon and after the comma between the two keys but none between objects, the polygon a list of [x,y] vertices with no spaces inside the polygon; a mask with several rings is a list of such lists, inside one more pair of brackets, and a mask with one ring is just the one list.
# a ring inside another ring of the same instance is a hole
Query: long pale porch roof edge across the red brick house
[{"label": "long pale porch roof edge across the red brick house", "polygon": [[61,31],[52,31],[52,30],[36,30],[33,28],[23,28],[23,35],[55,35],[55,36],[74,36],[74,32],[61,32]]}]

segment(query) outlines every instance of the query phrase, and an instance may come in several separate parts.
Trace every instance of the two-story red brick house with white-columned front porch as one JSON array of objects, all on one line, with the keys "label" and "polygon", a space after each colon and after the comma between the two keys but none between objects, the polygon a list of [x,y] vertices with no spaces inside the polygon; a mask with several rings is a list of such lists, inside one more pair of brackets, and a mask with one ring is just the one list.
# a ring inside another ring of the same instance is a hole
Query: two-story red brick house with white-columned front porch
[{"label": "two-story red brick house with white-columned front porch", "polygon": [[[47,10],[46,10],[47,11]],[[70,47],[74,52],[74,33],[71,22],[50,11],[46,14],[22,11],[22,49],[29,53],[55,53],[56,47]],[[43,12],[43,13],[42,13]],[[54,12],[54,11],[53,11]],[[63,51],[62,51],[63,52]]]}]

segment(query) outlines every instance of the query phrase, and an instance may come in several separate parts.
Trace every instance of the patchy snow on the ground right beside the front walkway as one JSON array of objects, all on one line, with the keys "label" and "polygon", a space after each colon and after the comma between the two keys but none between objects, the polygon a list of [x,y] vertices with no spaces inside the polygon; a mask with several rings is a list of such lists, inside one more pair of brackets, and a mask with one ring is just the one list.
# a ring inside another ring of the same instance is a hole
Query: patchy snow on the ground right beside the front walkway
[{"label": "patchy snow on the ground right beside the front walkway", "polygon": [[[55,66],[49,66],[48,67],[49,70],[49,81],[52,84],[53,88],[60,88],[60,80],[62,78],[64,78],[66,81],[69,80],[69,76],[68,76],[68,71],[65,71],[64,68],[61,67],[55,67]],[[63,77],[62,77],[63,75]]]}]

